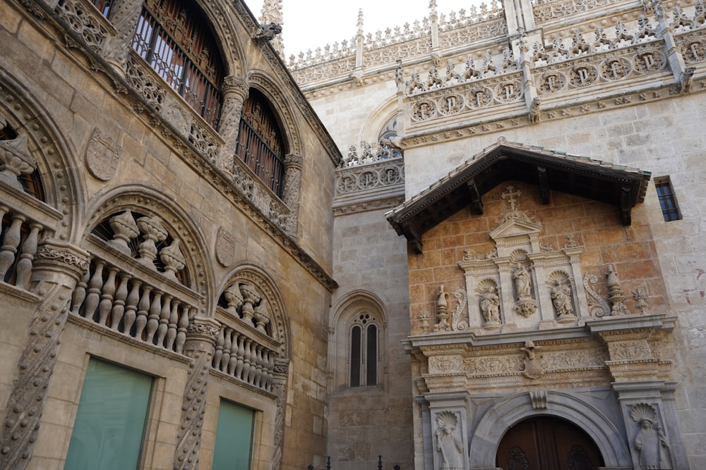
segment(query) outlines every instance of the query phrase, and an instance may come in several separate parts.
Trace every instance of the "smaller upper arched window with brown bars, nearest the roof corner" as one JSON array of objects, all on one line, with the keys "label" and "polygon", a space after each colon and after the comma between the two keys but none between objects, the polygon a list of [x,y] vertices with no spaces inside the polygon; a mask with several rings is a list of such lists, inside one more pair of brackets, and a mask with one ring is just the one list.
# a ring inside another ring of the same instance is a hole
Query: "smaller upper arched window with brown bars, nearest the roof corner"
[{"label": "smaller upper arched window with brown bars, nearest the roof corner", "polygon": [[243,106],[235,153],[278,197],[285,179],[285,143],[265,96],[250,89]]}]

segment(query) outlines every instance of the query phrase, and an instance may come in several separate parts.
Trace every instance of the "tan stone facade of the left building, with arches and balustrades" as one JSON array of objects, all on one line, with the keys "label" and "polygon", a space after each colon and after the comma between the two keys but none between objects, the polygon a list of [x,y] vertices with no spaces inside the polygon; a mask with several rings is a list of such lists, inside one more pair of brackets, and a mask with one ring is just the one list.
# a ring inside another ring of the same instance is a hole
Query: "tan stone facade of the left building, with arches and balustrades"
[{"label": "tan stone facade of the left building, with arches and balustrades", "polygon": [[[328,338],[314,326],[336,287],[341,156],[270,45],[253,41],[243,4],[173,3],[222,44],[208,51],[231,74],[220,121],[133,49],[155,2],[0,6],[3,469],[80,465],[72,439],[95,361],[151,383],[143,427],[111,431],[143,436],[140,468],[212,468],[222,402],[253,416],[249,468],[325,453],[326,397],[307,390],[326,387]],[[193,41],[175,27],[181,46]],[[234,168],[250,89],[280,118],[282,197]]]}]

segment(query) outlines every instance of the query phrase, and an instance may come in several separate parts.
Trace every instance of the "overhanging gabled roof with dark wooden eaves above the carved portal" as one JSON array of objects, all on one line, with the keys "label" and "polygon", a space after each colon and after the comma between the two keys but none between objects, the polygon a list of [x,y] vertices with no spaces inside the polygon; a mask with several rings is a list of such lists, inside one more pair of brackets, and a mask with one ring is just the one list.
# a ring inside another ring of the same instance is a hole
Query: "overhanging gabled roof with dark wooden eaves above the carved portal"
[{"label": "overhanging gabled roof with dark wooden eaves above the carved portal", "polygon": [[650,172],[501,137],[385,217],[421,253],[426,231],[465,206],[483,214],[483,194],[508,180],[536,185],[544,204],[552,190],[616,205],[623,225],[630,225],[630,211],[645,199]]}]

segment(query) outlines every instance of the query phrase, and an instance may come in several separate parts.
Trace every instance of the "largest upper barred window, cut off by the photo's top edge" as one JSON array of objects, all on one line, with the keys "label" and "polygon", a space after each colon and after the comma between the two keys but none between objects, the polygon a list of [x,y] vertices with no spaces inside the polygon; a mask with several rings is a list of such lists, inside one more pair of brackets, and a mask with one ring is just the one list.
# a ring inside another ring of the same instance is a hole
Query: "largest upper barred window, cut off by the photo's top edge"
[{"label": "largest upper barred window, cut off by the photo's top edge", "polygon": [[145,1],[132,47],[206,122],[217,126],[223,64],[201,11],[191,2]]}]

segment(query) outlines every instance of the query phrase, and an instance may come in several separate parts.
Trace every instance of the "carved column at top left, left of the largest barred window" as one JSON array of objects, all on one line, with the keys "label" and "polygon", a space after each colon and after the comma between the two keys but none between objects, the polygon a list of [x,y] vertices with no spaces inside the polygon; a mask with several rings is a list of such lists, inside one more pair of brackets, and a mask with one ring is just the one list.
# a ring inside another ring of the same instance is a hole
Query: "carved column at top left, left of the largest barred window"
[{"label": "carved column at top left, left of the largest barred window", "polygon": [[108,19],[116,33],[107,40],[103,56],[123,77],[142,4],[142,0],[117,0],[110,8]]}]

